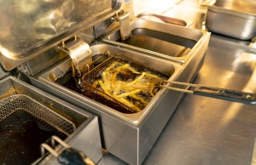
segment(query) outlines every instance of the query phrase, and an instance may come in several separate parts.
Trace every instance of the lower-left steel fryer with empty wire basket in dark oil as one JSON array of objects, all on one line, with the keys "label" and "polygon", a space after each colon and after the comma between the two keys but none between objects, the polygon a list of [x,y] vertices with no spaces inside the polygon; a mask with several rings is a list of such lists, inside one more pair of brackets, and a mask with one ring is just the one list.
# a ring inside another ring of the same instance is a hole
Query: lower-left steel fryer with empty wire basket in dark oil
[{"label": "lower-left steel fryer with empty wire basket in dark oil", "polygon": [[[40,145],[49,143],[52,135],[94,162],[102,157],[97,117],[15,77],[6,77],[0,84],[1,163],[54,163],[54,156],[40,153]],[[91,129],[95,132],[90,133]],[[63,147],[57,145],[55,149],[62,151]]]}]

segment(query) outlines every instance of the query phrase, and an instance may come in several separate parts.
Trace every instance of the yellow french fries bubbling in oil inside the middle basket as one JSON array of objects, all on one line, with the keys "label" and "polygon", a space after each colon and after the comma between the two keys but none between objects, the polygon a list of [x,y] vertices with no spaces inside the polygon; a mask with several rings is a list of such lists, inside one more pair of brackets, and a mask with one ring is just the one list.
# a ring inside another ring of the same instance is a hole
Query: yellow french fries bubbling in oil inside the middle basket
[{"label": "yellow french fries bubbling in oil inside the middle basket", "polygon": [[114,61],[92,86],[138,112],[148,105],[156,94],[154,88],[162,82],[163,79],[157,75],[136,71],[123,61]]}]

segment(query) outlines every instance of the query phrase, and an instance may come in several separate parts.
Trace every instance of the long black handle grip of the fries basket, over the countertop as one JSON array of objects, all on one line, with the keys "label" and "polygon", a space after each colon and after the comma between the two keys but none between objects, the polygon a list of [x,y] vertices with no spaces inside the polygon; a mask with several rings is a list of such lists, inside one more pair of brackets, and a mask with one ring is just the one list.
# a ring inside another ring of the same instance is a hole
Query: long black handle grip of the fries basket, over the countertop
[{"label": "long black handle grip of the fries basket, over the countertop", "polygon": [[194,94],[221,100],[230,100],[244,104],[256,104],[256,94],[245,93],[226,88],[212,88],[198,85],[194,90]]}]

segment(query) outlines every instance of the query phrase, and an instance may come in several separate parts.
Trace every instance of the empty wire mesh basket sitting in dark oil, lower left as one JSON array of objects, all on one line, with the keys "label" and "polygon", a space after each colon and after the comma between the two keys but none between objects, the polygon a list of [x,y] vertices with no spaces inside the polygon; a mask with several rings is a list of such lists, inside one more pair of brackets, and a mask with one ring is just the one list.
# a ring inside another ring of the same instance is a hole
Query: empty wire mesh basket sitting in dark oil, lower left
[{"label": "empty wire mesh basket sitting in dark oil, lower left", "polygon": [[30,164],[40,157],[39,145],[50,136],[66,139],[74,130],[73,122],[26,95],[0,100],[0,163]]}]

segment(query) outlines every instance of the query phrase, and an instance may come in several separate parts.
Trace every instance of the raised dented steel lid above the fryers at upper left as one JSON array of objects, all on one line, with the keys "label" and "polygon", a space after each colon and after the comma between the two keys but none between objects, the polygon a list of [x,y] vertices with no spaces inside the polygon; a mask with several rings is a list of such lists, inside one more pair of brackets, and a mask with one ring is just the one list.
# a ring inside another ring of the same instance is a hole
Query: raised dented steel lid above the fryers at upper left
[{"label": "raised dented steel lid above the fryers at upper left", "polygon": [[113,16],[123,0],[0,0],[0,61],[10,71]]}]

